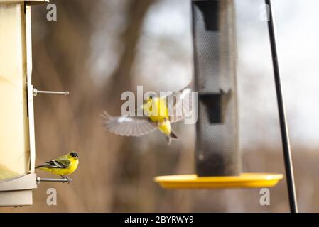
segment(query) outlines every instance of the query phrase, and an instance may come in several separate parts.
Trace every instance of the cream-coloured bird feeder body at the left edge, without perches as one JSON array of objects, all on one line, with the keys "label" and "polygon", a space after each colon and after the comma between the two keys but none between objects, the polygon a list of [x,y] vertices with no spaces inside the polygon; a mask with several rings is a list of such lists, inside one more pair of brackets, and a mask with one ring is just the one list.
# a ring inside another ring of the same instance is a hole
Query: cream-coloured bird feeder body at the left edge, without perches
[{"label": "cream-coloured bird feeder body at the left edge, without perches", "polygon": [[31,205],[37,187],[31,5],[44,1],[0,1],[0,206]]}]

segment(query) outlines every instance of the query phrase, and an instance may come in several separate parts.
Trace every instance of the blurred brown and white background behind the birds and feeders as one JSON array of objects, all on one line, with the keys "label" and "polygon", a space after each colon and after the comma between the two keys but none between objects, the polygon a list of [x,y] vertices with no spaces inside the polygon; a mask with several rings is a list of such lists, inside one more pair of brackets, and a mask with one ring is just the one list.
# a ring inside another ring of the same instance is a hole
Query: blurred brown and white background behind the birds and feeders
[{"label": "blurred brown and white background behind the birds and feeders", "polygon": [[[51,3],[58,7],[58,21],[46,21],[45,5],[33,6],[33,85],[68,90],[70,96],[35,98],[36,162],[76,150],[80,167],[72,184],[38,185],[33,206],[0,211],[288,211],[285,181],[271,189],[270,206],[259,204],[259,189],[168,191],[155,184],[157,175],[194,172],[194,126],[174,125],[181,139],[169,147],[158,132],[124,138],[101,126],[104,109],[120,114],[123,91],[136,92],[136,85],[144,92],[177,90],[191,82],[190,1]],[[240,147],[245,172],[284,172],[262,3],[237,1]],[[318,211],[319,4],[274,4],[299,206]],[[58,191],[58,206],[46,204],[50,187]]]}]

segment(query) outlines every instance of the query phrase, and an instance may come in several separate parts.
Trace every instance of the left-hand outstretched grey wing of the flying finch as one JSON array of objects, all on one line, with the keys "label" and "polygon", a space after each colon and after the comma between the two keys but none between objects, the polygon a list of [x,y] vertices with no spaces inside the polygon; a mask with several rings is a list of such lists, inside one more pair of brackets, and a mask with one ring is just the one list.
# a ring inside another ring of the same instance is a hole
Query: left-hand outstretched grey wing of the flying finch
[{"label": "left-hand outstretched grey wing of the flying finch", "polygon": [[156,129],[156,124],[146,117],[111,116],[103,112],[103,126],[108,131],[124,136],[141,136],[151,133]]}]

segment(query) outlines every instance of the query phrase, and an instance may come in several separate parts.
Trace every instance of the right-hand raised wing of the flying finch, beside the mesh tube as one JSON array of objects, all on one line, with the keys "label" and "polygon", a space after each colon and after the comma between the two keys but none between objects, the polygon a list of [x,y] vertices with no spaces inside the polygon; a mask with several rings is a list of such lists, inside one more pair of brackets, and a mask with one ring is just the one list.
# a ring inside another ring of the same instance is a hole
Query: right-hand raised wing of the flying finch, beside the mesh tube
[{"label": "right-hand raised wing of the flying finch, beside the mesh tube", "polygon": [[181,121],[193,111],[192,90],[185,88],[166,97],[171,123]]}]

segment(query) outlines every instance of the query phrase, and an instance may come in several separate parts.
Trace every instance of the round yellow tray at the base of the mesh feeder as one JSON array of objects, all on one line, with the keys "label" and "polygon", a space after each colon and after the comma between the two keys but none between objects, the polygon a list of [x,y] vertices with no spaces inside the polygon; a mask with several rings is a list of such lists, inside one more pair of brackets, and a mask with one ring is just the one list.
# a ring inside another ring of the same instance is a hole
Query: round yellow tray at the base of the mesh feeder
[{"label": "round yellow tray at the base of the mesh feeder", "polygon": [[221,189],[274,187],[282,174],[242,173],[239,176],[198,177],[198,175],[171,175],[155,177],[164,189]]}]

